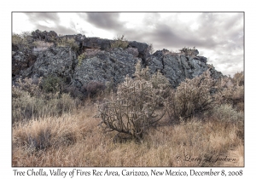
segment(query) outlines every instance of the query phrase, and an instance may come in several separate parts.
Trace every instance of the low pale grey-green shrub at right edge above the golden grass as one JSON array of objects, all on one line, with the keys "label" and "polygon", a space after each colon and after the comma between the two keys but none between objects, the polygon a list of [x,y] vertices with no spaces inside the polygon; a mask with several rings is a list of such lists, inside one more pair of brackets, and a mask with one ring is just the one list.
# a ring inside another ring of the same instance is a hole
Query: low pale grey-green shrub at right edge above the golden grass
[{"label": "low pale grey-green shrub at right edge above the golden grass", "polygon": [[236,109],[229,104],[216,106],[212,109],[211,113],[214,118],[218,118],[218,120],[221,121],[237,122],[243,121],[244,119],[243,113],[237,112]]}]

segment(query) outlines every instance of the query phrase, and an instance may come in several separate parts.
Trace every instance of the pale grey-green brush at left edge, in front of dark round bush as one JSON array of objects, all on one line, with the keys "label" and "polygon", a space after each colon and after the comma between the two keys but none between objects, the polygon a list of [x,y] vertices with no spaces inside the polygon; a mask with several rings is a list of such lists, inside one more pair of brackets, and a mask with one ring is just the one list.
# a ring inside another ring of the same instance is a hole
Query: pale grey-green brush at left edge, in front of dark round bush
[{"label": "pale grey-green brush at left edge, in front of dark round bush", "polygon": [[79,107],[79,100],[73,99],[68,94],[46,94],[44,91],[33,92],[19,86],[12,89],[12,121],[26,121],[31,118],[44,118],[60,116],[63,113],[73,113]]}]

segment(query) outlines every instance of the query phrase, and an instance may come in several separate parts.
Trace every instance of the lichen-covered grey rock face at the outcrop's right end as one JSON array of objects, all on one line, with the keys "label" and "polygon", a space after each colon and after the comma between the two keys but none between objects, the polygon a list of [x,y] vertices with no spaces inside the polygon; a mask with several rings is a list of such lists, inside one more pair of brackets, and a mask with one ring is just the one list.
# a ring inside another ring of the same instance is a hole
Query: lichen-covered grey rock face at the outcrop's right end
[{"label": "lichen-covered grey rock face at the outcrop's right end", "polygon": [[[172,53],[167,53],[166,49],[163,49],[157,50],[151,55],[147,59],[147,65],[151,73],[160,70],[168,78],[172,87],[176,88],[185,78],[195,78],[207,71],[209,66],[207,66],[205,61],[201,61],[204,58],[195,55],[173,55]],[[212,76],[219,78],[222,76],[222,73],[212,69]]]}]

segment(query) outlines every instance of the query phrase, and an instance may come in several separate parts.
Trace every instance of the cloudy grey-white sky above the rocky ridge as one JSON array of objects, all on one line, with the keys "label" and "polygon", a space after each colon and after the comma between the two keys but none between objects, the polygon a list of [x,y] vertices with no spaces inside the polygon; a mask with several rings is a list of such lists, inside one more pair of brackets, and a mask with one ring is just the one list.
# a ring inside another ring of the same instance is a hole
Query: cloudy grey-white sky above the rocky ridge
[{"label": "cloudy grey-white sky above the rocky ridge", "polygon": [[55,31],[152,43],[154,50],[195,47],[225,75],[243,71],[244,14],[234,13],[12,13],[15,33]]}]

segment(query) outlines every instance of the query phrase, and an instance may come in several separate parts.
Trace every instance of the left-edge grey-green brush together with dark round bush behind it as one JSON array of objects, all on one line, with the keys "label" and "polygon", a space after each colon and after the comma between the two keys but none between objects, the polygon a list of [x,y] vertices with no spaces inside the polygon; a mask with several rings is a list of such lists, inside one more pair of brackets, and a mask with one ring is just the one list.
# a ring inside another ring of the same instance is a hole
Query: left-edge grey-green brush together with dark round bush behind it
[{"label": "left-edge grey-green brush together with dark round bush behind it", "polygon": [[56,78],[46,78],[43,83],[42,78],[19,80],[18,85],[12,87],[13,124],[72,113],[79,106],[79,101],[68,94],[60,94],[58,83],[60,81]]}]

